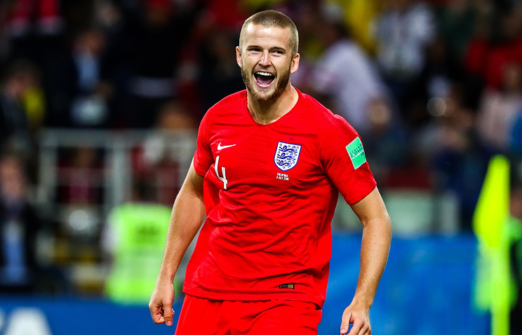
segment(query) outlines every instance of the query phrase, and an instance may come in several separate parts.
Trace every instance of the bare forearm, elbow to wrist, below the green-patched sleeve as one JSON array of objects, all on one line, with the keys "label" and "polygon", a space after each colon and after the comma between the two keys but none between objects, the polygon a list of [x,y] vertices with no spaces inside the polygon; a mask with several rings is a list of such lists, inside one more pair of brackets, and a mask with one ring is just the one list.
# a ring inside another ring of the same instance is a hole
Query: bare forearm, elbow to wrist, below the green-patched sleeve
[{"label": "bare forearm, elbow to wrist, below the green-patched sleeve", "polygon": [[370,308],[386,266],[391,241],[391,223],[387,217],[372,219],[363,228],[361,268],[352,303]]}]

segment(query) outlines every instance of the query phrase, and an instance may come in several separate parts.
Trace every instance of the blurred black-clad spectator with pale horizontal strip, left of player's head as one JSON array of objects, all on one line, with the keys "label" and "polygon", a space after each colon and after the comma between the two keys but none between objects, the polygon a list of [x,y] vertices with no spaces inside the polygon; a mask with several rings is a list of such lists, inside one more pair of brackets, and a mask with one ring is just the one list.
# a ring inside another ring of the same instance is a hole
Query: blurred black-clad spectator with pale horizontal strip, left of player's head
[{"label": "blurred black-clad spectator with pale horizontal strip, left of player's head", "polygon": [[[137,20],[128,22],[128,125],[150,128],[158,109],[177,92],[180,56],[194,21],[170,0],[144,0]],[[125,61],[125,60],[123,60]]]}]

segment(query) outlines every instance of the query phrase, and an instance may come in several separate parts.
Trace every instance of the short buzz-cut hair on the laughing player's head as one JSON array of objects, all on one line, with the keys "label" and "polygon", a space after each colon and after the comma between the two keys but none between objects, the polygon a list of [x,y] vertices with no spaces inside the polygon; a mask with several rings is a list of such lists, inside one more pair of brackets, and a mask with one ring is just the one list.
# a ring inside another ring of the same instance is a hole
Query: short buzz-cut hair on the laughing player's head
[{"label": "short buzz-cut hair on the laughing player's head", "polygon": [[299,48],[299,33],[297,32],[295,23],[285,14],[279,11],[268,10],[255,13],[250,16],[250,18],[246,19],[241,27],[241,33],[239,34],[239,48],[241,50],[243,50],[243,44],[245,41],[246,27],[250,24],[262,25],[263,27],[290,29],[290,41],[288,41],[288,44],[290,50],[292,50],[292,56],[297,55],[297,49]]}]

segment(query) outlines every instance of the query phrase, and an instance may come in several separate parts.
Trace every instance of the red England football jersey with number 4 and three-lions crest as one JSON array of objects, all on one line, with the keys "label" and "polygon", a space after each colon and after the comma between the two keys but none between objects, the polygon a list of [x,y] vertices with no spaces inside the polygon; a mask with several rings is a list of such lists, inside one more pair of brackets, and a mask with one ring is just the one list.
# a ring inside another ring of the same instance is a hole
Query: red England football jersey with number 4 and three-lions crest
[{"label": "red England football jersey with number 4 and three-lions crest", "polygon": [[337,190],[353,204],[375,179],[354,128],[297,92],[295,107],[269,125],[250,116],[246,90],[201,121],[194,168],[204,177],[207,217],[186,293],[323,305]]}]

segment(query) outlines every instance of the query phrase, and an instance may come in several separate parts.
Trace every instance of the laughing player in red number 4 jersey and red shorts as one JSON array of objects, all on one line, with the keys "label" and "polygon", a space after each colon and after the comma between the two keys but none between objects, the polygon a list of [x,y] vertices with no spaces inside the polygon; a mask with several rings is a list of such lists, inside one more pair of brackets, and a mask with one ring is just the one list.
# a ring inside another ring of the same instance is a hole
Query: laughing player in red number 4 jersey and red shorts
[{"label": "laughing player in red number 4 jersey and red shorts", "polygon": [[173,324],[174,273],[206,214],[187,267],[178,335],[316,335],[337,190],[364,226],[359,282],[341,333],[349,324],[349,335],[371,332],[391,224],[355,130],[291,86],[297,45],[286,15],[248,18],[236,48],[247,89],[201,121],[149,302],[154,322]]}]

